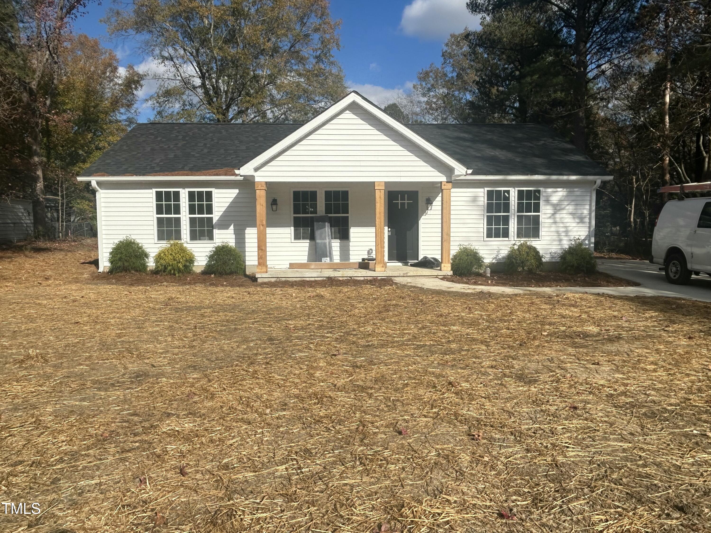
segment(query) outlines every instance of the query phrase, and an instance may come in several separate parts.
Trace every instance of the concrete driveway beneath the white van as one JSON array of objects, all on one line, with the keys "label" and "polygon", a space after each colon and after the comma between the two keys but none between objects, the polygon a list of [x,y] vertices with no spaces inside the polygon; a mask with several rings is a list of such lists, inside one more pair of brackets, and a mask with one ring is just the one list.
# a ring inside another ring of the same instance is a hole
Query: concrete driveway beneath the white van
[{"label": "concrete driveway beneath the white van", "polygon": [[666,281],[658,264],[624,259],[598,259],[599,269],[619,278],[636,281],[646,289],[678,294],[685,298],[711,301],[711,277],[705,274],[692,276],[688,285],[673,285]]}]

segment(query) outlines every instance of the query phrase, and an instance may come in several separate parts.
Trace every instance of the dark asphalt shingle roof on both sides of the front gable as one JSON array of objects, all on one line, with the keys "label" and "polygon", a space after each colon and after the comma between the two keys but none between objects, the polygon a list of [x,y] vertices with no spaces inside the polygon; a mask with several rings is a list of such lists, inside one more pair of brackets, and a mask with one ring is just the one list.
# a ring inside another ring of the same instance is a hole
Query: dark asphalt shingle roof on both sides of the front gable
[{"label": "dark asphalt shingle roof on both sides of the front gable", "polygon": [[[137,124],[82,176],[241,168],[302,124]],[[409,124],[478,176],[606,176],[597,163],[538,124]]]}]

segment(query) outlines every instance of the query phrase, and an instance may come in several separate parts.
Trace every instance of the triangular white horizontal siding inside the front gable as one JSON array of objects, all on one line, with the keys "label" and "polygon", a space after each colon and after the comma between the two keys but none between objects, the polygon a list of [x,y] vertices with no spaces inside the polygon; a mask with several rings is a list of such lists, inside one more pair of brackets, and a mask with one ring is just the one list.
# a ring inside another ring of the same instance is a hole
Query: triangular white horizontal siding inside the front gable
[{"label": "triangular white horizontal siding inside the front gable", "polygon": [[257,169],[257,181],[284,179],[445,181],[451,169],[358,105]]}]

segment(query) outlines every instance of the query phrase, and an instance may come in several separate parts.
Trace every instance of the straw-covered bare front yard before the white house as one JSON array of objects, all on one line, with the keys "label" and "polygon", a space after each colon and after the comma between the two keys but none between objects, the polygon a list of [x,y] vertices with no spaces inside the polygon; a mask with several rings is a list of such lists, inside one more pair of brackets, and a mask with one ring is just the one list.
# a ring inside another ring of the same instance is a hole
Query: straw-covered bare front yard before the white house
[{"label": "straw-covered bare front yard before the white house", "polygon": [[[0,251],[5,532],[711,529],[711,305]],[[196,278],[203,279],[203,278]]]}]

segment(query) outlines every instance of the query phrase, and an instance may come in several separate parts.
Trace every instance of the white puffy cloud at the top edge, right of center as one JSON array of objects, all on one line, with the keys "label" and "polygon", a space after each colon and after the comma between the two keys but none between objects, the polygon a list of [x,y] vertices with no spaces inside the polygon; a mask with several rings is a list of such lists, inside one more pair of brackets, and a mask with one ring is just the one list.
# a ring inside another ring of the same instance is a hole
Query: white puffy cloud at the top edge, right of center
[{"label": "white puffy cloud at the top edge, right of center", "polygon": [[466,9],[466,0],[412,0],[402,10],[400,30],[405,35],[443,41],[450,33],[479,28],[479,16]]}]

